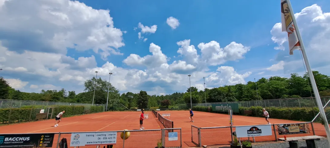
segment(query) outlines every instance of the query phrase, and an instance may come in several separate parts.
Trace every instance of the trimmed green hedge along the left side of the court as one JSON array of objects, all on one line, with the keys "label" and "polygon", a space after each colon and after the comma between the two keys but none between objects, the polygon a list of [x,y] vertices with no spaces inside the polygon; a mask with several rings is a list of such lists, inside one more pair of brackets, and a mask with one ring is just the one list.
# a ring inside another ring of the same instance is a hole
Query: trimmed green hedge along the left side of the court
[{"label": "trimmed green hedge along the left side of the court", "polygon": [[[35,108],[32,106],[30,108],[12,108],[10,109],[0,109],[0,123],[15,123],[15,122],[24,122],[24,121],[34,121],[36,120],[36,114],[40,110],[45,110],[45,113],[48,112],[46,107],[44,108]],[[81,115],[85,112],[85,106],[57,106],[58,108],[53,109],[52,118],[54,118],[59,112],[65,111],[63,117],[70,117],[75,115]],[[50,112],[51,110],[49,110]],[[90,113],[102,112],[104,111],[103,106],[91,106]],[[10,118],[9,118],[10,114]],[[50,115],[48,116],[50,118]]]}]

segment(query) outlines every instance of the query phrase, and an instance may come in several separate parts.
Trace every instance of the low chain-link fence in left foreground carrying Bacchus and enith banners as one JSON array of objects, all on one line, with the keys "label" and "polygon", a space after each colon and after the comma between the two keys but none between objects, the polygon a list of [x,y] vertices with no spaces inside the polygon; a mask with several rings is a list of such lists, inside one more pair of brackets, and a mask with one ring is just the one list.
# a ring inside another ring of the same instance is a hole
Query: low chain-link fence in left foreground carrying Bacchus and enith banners
[{"label": "low chain-link fence in left foreground carrying Bacchus and enith banners", "polygon": [[[168,133],[167,131],[173,131]],[[103,132],[75,132],[75,133],[31,133],[31,134],[0,134],[6,137],[29,136],[34,147],[45,147],[49,143],[52,148],[82,147],[105,148],[107,145],[116,147],[154,148],[158,145],[165,148],[182,147],[181,128],[159,130],[131,130],[131,131],[103,131]],[[112,134],[110,136],[110,134]],[[113,134],[116,134],[113,135]],[[50,138],[42,135],[53,135]],[[127,137],[125,137],[127,136]],[[7,143],[3,144],[5,146]],[[49,145],[47,147],[49,147]]]}]

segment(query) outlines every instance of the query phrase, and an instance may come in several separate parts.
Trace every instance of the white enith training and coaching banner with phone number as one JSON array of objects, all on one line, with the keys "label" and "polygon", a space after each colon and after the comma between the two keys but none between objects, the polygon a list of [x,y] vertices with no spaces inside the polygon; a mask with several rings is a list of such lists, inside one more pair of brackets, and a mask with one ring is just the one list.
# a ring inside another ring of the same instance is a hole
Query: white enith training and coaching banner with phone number
[{"label": "white enith training and coaching banner with phone number", "polygon": [[70,146],[116,144],[117,132],[72,133]]}]

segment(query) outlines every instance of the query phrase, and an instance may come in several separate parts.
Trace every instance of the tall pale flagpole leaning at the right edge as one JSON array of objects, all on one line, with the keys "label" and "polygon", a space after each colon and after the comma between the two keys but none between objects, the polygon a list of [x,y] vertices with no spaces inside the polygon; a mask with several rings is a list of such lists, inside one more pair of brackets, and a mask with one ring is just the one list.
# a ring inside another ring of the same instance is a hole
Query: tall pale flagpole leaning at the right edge
[{"label": "tall pale flagpole leaning at the right edge", "polygon": [[315,98],[316,98],[317,106],[318,106],[318,109],[320,110],[320,115],[323,119],[325,133],[326,133],[328,141],[330,143],[330,128],[329,128],[328,120],[327,120],[327,117],[325,115],[325,112],[324,112],[324,109],[323,109],[323,106],[322,106],[322,102],[321,102],[321,98],[320,98],[320,95],[318,93],[317,86],[316,86],[316,83],[315,83],[315,80],[314,80],[313,71],[312,71],[310,63],[308,62],[307,54],[306,54],[306,51],[305,51],[305,46],[304,46],[303,40],[301,38],[299,29],[298,29],[298,25],[297,25],[297,22],[296,22],[296,17],[294,16],[292,6],[291,6],[291,2],[290,2],[290,0],[286,0],[286,2],[287,2],[287,5],[289,7],[290,14],[292,16],[292,22],[294,24],[294,28],[296,30],[297,37],[298,37],[298,40],[299,40],[299,43],[300,43],[301,51],[303,53],[303,57],[304,57],[304,60],[305,60],[305,63],[306,63],[306,68],[307,68],[308,75],[309,75],[310,80],[311,80],[311,84],[312,84],[312,88],[313,88],[314,95],[315,95]]}]

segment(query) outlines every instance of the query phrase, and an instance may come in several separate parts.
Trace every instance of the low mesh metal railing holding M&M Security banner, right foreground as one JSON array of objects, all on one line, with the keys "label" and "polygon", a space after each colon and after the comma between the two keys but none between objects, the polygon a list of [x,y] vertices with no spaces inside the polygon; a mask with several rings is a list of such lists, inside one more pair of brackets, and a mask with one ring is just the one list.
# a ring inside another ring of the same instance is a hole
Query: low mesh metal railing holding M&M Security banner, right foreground
[{"label": "low mesh metal railing holding M&M Security banner, right foreground", "polygon": [[[303,125],[306,133],[301,133],[299,136],[312,136],[315,135],[313,122],[300,122],[300,123],[283,123],[283,124],[271,124],[272,135],[270,136],[254,136],[254,137],[241,137],[239,141],[249,140],[253,142],[269,142],[278,141],[278,138],[295,137],[296,134],[279,134],[281,126],[285,124],[290,125]],[[251,126],[269,126],[269,125],[248,125],[248,126],[225,126],[225,127],[205,127],[199,128],[191,125],[191,142],[196,146],[202,145],[214,146],[214,145],[228,145],[233,143],[233,135],[236,134],[236,127],[251,127]],[[221,138],[219,138],[221,136]]]}]

